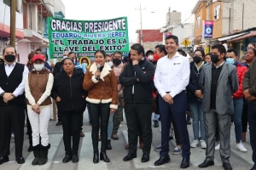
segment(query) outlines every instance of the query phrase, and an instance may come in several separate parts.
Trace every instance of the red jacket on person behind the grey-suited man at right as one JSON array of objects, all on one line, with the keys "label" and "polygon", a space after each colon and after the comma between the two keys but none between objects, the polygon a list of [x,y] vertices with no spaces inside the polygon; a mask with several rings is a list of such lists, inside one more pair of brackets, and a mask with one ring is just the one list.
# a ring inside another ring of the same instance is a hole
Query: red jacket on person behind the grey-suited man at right
[{"label": "red jacket on person behind the grey-suited man at right", "polygon": [[238,99],[238,98],[243,97],[242,80],[243,80],[244,74],[247,72],[247,67],[241,66],[241,64],[238,63],[238,65],[236,65],[236,71],[237,71],[237,77],[238,77],[238,82],[239,82],[239,88],[236,91],[236,93],[233,94],[233,99]]}]

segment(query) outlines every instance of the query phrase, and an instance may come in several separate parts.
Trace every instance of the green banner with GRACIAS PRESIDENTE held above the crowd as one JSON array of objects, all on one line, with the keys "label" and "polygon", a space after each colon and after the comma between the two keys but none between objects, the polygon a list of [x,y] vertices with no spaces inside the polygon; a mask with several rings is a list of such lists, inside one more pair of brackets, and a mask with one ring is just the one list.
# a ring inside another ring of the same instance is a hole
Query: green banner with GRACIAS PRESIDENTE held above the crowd
[{"label": "green banner with GRACIAS PRESIDENTE held above the crowd", "polygon": [[49,54],[62,58],[64,51],[77,57],[94,56],[98,49],[106,54],[129,52],[127,17],[112,20],[64,20],[49,18]]}]

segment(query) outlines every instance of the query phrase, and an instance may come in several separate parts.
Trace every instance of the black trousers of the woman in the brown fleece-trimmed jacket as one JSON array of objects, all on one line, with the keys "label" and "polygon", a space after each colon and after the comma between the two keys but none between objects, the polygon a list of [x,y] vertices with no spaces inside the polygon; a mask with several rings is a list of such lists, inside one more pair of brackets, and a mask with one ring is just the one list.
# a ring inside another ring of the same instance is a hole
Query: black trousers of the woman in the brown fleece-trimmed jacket
[{"label": "black trousers of the woman in the brown fleece-trimmed jacket", "polygon": [[[110,108],[108,104],[92,104],[89,103],[90,109],[90,122],[91,122],[91,139],[93,150],[99,150],[98,148],[98,137],[99,128],[101,124],[101,140],[102,140],[102,151],[106,151],[108,141],[108,119],[110,114]],[[101,119],[101,123],[99,120]]]}]

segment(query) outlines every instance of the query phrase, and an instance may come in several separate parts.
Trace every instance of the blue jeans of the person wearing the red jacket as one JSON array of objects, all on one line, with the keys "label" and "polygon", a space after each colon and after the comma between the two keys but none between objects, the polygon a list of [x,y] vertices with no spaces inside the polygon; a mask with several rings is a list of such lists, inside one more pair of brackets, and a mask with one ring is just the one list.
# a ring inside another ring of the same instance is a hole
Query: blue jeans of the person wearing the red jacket
[{"label": "blue jeans of the person wearing the red jacket", "polygon": [[234,114],[233,114],[233,121],[235,124],[235,133],[236,133],[236,143],[240,143],[241,141],[241,115],[242,115],[242,108],[243,108],[243,99],[233,99],[234,103]]}]

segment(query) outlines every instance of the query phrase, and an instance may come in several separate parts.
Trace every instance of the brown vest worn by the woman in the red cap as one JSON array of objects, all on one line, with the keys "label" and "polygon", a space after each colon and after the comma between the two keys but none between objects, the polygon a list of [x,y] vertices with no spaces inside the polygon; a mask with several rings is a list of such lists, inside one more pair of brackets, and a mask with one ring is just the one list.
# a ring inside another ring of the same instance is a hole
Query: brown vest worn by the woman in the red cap
[{"label": "brown vest worn by the woman in the red cap", "polygon": [[[33,98],[35,99],[36,103],[44,94],[46,89],[46,85],[48,82],[50,71],[48,69],[44,69],[43,71],[31,71],[28,73],[28,82],[29,88]],[[28,100],[26,101],[27,105],[31,105]],[[48,97],[44,100],[41,105],[51,105],[51,99]]]}]

